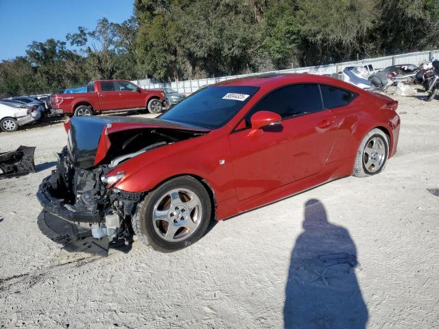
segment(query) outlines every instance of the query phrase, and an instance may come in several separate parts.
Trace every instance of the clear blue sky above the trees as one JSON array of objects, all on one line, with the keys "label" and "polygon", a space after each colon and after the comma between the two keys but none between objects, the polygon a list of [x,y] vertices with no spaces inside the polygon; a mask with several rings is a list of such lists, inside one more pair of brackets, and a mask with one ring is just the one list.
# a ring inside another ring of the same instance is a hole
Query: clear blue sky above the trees
[{"label": "clear blue sky above the trees", "polygon": [[34,40],[65,41],[78,26],[94,29],[103,17],[122,23],[132,10],[133,0],[0,0],[0,61],[25,56]]}]

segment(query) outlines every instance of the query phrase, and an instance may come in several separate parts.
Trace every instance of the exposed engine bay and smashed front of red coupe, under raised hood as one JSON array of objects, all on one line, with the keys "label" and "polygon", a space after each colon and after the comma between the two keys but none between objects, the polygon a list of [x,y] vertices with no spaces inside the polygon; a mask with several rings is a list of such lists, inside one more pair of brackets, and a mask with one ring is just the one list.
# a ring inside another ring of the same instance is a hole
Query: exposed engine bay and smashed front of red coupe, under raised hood
[{"label": "exposed engine bay and smashed front of red coupe, under raised hood", "polygon": [[[132,242],[131,216],[146,195],[146,192],[130,193],[112,188],[106,181],[106,174],[130,158],[202,136],[205,132],[139,127],[107,134],[110,147],[99,164],[92,165],[99,153],[99,138],[79,136],[78,132],[84,131],[82,123],[90,122],[72,123],[69,143],[58,154],[56,170],[40,184],[37,197],[44,210],[38,224],[43,233],[69,251],[106,256],[109,243],[129,245]],[[91,135],[96,131],[95,127]],[[57,219],[63,223],[58,223]],[[53,232],[47,234],[47,228]],[[65,232],[66,229],[70,232]]]}]

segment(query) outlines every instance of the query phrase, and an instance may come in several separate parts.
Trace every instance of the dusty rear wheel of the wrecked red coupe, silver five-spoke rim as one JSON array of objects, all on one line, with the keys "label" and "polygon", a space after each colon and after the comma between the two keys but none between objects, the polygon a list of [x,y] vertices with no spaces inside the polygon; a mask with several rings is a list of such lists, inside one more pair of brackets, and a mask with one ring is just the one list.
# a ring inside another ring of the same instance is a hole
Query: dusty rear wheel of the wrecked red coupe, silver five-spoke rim
[{"label": "dusty rear wheel of the wrecked red coupe, silver five-spoke rim", "polygon": [[370,130],[359,145],[353,175],[366,177],[383,171],[389,154],[389,139],[378,128]]}]

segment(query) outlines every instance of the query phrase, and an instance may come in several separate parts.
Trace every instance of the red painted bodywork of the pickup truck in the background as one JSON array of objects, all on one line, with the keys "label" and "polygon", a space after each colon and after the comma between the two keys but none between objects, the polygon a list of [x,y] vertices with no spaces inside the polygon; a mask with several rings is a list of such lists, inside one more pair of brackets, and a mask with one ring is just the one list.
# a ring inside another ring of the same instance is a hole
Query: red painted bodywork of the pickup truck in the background
[{"label": "red painted bodywork of the pickup truck in the background", "polygon": [[[55,94],[50,97],[50,105],[54,110],[62,110],[64,114],[73,114],[80,105],[91,106],[95,112],[110,110],[129,110],[147,108],[152,98],[165,100],[162,90],[142,89],[137,91],[102,91],[102,82],[128,82],[127,80],[96,80],[95,91],[90,93]],[[132,82],[129,82],[132,84]]]}]

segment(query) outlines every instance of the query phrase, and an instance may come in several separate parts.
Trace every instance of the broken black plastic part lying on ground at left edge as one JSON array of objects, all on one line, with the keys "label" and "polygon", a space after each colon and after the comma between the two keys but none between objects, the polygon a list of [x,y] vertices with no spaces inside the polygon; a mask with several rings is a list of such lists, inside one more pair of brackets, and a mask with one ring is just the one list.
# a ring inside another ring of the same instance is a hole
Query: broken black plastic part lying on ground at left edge
[{"label": "broken black plastic part lying on ground at left edge", "polygon": [[34,153],[35,147],[27,146],[0,153],[0,179],[34,173]]}]

